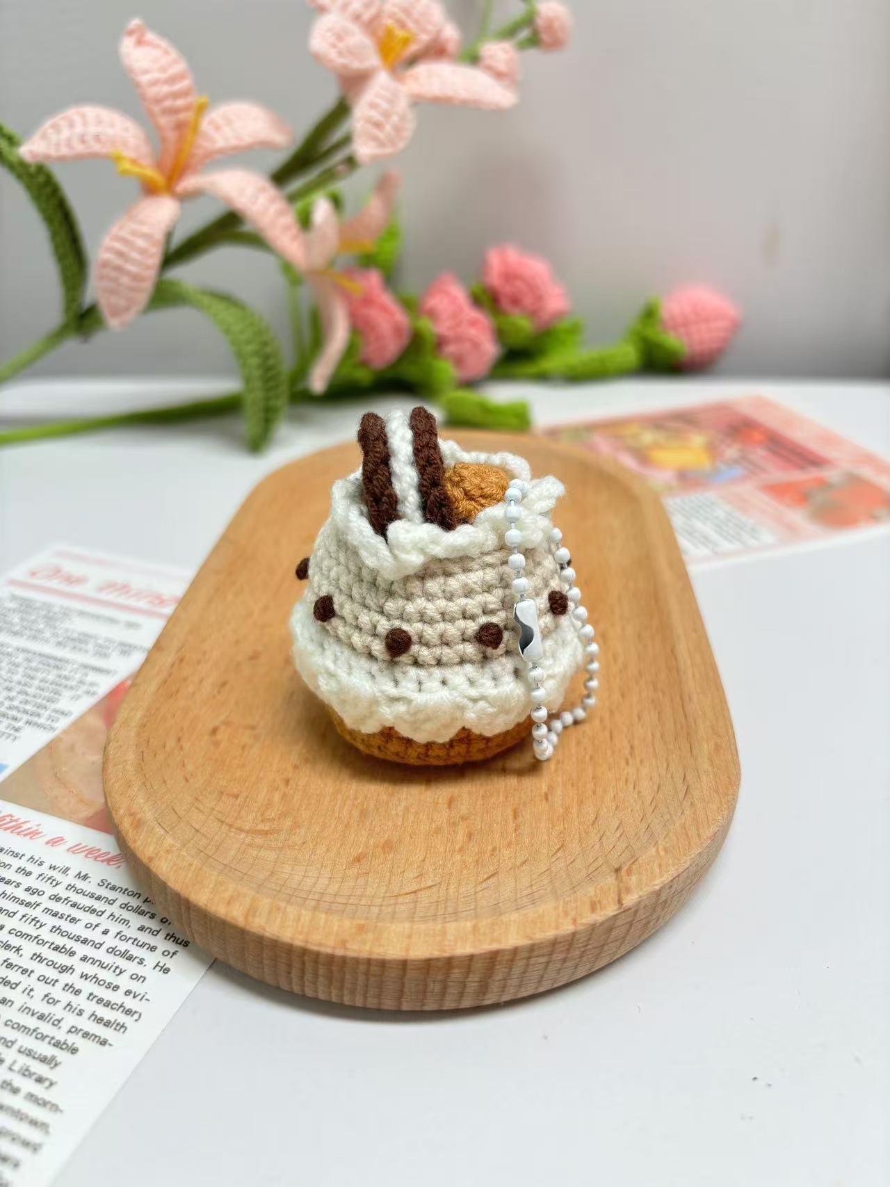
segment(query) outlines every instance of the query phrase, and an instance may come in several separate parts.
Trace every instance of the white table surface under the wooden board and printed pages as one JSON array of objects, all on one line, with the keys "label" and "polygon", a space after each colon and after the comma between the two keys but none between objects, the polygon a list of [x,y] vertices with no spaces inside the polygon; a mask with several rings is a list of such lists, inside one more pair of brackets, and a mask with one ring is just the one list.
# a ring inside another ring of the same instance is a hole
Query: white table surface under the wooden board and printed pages
[{"label": "white table surface under the wooden board and printed pages", "polygon": [[[0,423],[172,391],[19,385]],[[890,453],[890,385],[522,394],[543,424],[751,392]],[[0,570],[55,540],[197,567],[262,474],[356,417],[303,407],[260,458],[228,419],[0,451]],[[742,795],[713,870],[651,939],[564,989],[444,1015],[328,1005],[216,964],[58,1187],[886,1185],[889,541],[694,575]]]}]

